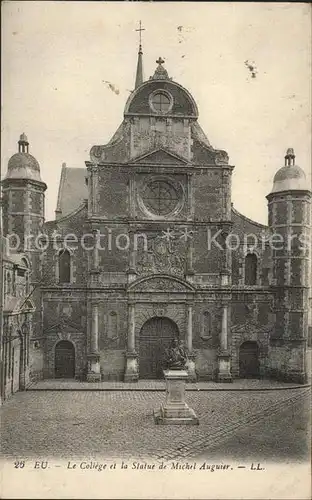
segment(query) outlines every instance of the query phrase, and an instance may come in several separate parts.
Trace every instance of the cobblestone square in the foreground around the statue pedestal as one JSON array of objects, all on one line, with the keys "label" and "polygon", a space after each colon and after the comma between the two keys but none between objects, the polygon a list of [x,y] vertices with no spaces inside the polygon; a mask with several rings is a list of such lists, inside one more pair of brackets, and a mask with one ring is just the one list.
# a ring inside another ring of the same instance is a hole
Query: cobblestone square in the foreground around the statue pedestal
[{"label": "cobblestone square in the foreground around the statue pedestal", "polygon": [[198,426],[157,426],[160,391],[26,391],[1,409],[6,459],[302,461],[309,456],[309,388],[190,391]]}]

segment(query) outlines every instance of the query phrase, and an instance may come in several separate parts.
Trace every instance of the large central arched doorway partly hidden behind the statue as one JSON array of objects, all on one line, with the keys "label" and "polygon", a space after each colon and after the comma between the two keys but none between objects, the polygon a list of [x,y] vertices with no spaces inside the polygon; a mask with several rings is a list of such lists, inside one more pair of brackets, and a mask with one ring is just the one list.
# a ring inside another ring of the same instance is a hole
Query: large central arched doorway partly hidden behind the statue
[{"label": "large central arched doorway partly hidden behind the statue", "polygon": [[169,318],[155,317],[144,323],[140,332],[140,378],[163,378],[165,349],[178,336],[179,329]]}]

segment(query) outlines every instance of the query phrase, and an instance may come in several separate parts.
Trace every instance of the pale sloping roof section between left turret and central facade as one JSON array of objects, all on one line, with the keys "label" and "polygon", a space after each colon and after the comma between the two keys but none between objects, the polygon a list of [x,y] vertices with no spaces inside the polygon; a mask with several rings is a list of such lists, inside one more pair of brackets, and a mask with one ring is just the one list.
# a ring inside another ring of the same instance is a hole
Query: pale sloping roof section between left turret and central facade
[{"label": "pale sloping roof section between left turret and central facade", "polygon": [[77,209],[88,198],[85,168],[62,165],[56,210],[61,217]]}]

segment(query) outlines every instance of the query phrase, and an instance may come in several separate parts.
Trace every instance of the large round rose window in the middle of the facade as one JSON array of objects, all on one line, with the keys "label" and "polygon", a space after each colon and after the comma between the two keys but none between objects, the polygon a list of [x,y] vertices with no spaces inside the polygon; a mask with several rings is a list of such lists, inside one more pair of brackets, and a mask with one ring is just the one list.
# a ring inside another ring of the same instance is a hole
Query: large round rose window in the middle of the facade
[{"label": "large round rose window in the middle of the facade", "polygon": [[169,182],[155,180],[145,187],[142,200],[149,212],[164,216],[175,210],[180,202],[180,196]]}]

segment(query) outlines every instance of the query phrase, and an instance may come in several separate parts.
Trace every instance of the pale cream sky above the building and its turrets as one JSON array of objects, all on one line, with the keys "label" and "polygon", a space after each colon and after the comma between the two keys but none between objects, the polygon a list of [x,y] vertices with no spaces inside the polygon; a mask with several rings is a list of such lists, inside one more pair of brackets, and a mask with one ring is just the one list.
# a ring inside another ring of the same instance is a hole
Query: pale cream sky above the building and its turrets
[{"label": "pale cream sky above the building and its turrets", "polygon": [[2,176],[25,132],[48,185],[46,219],[54,219],[62,163],[85,168],[91,147],[123,119],[139,20],[145,79],[163,57],[197,102],[210,143],[235,165],[235,208],[266,224],[265,196],[288,147],[311,180],[304,3],[2,2]]}]

